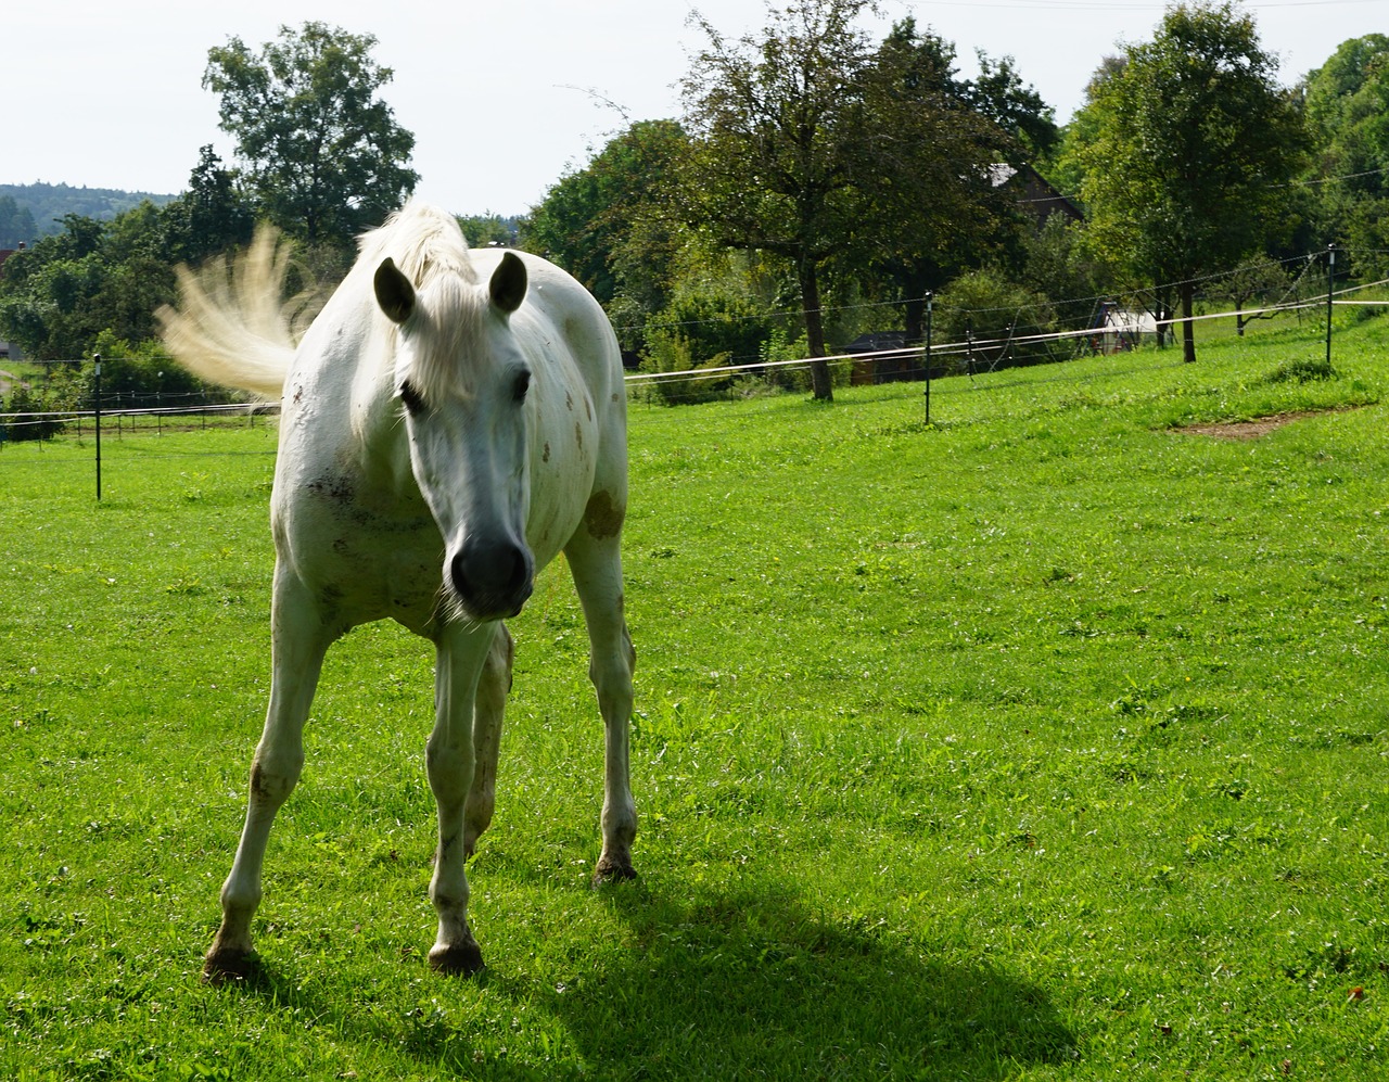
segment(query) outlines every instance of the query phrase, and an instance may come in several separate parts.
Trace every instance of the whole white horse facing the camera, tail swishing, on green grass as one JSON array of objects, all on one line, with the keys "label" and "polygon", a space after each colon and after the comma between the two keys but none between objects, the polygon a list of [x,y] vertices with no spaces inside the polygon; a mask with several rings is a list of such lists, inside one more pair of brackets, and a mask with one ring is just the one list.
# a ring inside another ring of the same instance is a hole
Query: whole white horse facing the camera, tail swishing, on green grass
[{"label": "whole white horse facing the camera, tail swishing, on green grass", "polygon": [[418,203],[363,238],[356,265],[297,347],[281,306],[286,264],[263,236],[231,275],[183,271],[181,310],[161,313],[168,347],[193,372],[283,401],[271,497],[269,710],[204,974],[221,981],[253,967],[265,843],[303,767],[324,654],[349,628],[382,617],[438,653],[428,772],[439,806],[429,885],[439,936],[429,963],[471,974],[482,953],[468,928],[464,861],[492,819],[511,686],[501,621],[561,550],[606,726],[594,878],[635,875],[617,340],[561,269],[535,256],[471,251],[451,215]]}]

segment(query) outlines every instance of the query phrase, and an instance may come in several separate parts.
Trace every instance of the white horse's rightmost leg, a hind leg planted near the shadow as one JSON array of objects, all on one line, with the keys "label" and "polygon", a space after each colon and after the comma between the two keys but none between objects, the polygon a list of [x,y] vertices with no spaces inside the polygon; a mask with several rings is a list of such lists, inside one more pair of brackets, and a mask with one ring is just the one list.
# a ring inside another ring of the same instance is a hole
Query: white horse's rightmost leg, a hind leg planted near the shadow
[{"label": "white horse's rightmost leg, a hind leg planted near the shadow", "polygon": [[619,535],[593,536],[588,525],[581,526],[564,554],[583,604],[589,628],[589,678],[603,714],[603,851],[593,881],[633,879],[636,804],[628,765],[628,726],[636,651],[622,618]]}]

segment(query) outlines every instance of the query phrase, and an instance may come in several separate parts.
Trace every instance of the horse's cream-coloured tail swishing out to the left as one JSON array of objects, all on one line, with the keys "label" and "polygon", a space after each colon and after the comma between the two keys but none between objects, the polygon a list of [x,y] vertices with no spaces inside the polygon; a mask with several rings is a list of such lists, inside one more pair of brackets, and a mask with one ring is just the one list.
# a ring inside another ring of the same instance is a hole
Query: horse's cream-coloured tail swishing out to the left
[{"label": "horse's cream-coloured tail swishing out to the left", "polygon": [[179,306],[157,313],[174,360],[208,383],[279,399],[296,344],[293,306],[282,303],[289,254],[261,226],[239,256],[179,267]]}]

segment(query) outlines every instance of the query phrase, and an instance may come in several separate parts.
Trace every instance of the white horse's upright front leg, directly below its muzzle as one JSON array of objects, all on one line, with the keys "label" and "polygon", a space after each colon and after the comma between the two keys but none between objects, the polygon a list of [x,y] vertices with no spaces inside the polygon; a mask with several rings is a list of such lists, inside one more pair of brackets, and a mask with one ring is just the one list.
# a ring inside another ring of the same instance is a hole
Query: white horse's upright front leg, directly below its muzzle
[{"label": "white horse's upright front leg, directly below its muzzle", "polygon": [[447,974],[474,974],[482,968],[482,951],[468,929],[464,807],[474,774],[474,699],[494,633],[494,624],[474,631],[450,626],[438,640],[428,768],[429,788],[439,804],[439,849],[429,882],[439,936],[429,950],[429,965]]}]

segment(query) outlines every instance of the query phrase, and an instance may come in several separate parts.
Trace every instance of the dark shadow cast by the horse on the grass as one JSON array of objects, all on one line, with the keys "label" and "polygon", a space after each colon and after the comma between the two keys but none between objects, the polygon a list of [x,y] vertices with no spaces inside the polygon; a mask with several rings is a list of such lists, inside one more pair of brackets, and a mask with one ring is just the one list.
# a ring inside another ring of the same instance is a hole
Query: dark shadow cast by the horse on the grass
[{"label": "dark shadow cast by the horse on the grass", "polygon": [[988,1079],[1075,1054],[1039,989],[988,963],[932,960],[871,918],[814,914],[765,885],[608,890],[635,947],[604,954],[553,1010],[618,1076]]}]

